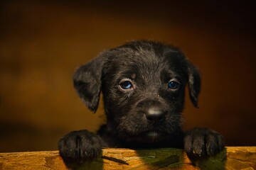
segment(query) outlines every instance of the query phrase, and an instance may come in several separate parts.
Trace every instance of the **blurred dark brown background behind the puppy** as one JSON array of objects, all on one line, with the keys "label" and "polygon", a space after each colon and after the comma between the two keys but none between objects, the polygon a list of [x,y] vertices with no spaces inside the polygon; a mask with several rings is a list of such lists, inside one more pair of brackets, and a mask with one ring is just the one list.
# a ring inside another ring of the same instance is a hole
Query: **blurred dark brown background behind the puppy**
[{"label": "blurred dark brown background behind the puppy", "polygon": [[[185,129],[217,130],[227,145],[256,145],[255,1],[1,1],[0,152],[57,149],[71,130],[95,131],[71,77],[128,40],[180,47],[203,77]],[[188,98],[187,98],[188,99]]]}]

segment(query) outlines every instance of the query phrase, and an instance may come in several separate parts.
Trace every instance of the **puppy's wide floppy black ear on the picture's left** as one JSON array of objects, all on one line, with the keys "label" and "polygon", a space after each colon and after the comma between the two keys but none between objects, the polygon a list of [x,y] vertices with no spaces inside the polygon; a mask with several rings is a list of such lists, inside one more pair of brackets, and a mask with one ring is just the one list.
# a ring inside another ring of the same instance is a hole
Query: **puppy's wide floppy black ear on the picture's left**
[{"label": "puppy's wide floppy black ear on the picture's left", "polygon": [[73,75],[73,84],[87,108],[94,113],[100,101],[101,77],[104,57],[102,52],[94,60],[79,67]]}]

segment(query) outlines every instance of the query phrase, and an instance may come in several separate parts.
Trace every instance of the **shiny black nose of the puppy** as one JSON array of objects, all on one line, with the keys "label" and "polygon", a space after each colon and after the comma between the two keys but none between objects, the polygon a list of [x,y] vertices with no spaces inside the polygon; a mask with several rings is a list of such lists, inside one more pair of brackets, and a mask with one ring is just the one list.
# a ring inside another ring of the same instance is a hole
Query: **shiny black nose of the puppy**
[{"label": "shiny black nose of the puppy", "polygon": [[165,119],[166,112],[161,108],[149,108],[149,110],[145,113],[145,117],[147,120],[154,122],[161,122]]}]

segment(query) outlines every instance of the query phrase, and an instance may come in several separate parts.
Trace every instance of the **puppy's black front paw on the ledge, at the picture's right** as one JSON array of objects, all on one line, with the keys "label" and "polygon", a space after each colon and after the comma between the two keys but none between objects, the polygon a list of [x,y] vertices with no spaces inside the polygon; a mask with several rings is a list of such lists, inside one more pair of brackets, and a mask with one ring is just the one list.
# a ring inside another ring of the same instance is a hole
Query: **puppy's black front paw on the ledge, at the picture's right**
[{"label": "puppy's black front paw on the ledge, at the picture's right", "polygon": [[223,149],[223,136],[208,128],[194,128],[184,136],[184,150],[189,156],[214,156]]}]

